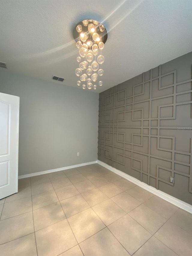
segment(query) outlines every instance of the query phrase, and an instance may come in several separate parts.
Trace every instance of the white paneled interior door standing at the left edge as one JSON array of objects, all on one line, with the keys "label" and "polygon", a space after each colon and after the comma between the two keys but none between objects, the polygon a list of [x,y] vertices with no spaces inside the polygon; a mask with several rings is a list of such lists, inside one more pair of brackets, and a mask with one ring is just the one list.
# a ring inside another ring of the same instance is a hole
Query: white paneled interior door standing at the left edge
[{"label": "white paneled interior door standing at the left edge", "polygon": [[19,97],[0,93],[0,199],[18,192]]}]

